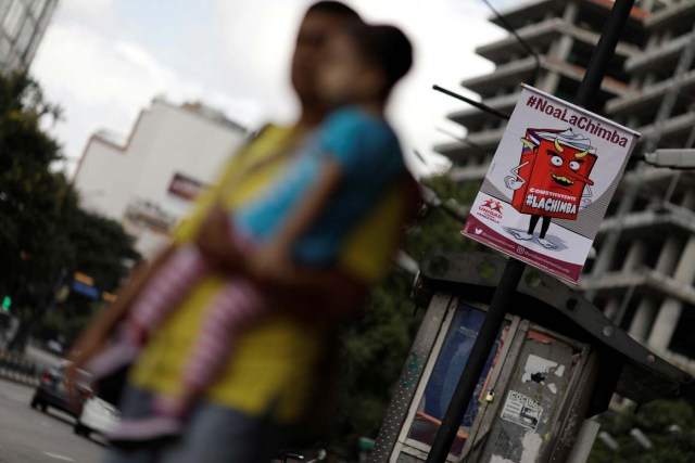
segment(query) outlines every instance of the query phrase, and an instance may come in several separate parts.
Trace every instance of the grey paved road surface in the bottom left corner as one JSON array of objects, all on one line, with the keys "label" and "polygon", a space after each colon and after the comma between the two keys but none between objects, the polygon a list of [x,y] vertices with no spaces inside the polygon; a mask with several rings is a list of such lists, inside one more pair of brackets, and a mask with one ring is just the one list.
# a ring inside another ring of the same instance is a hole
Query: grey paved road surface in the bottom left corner
[{"label": "grey paved road surface in the bottom left corner", "polygon": [[34,389],[0,380],[0,463],[98,463],[103,447],[73,434],[73,419],[29,408]]}]

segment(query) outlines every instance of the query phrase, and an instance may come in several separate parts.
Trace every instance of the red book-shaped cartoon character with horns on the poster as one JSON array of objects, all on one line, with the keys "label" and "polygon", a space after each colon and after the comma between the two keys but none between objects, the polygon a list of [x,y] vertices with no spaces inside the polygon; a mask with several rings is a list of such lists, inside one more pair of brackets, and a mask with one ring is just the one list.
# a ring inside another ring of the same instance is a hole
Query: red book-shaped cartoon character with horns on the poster
[{"label": "red book-shaped cartoon character with horns on the poster", "polygon": [[538,241],[555,249],[557,244],[545,237],[551,219],[577,220],[579,209],[591,204],[594,182],[589,176],[596,164],[596,149],[571,129],[527,129],[521,143],[521,159],[505,184],[514,190],[514,208],[531,219],[528,230],[507,231],[517,240],[532,240],[543,218]]}]

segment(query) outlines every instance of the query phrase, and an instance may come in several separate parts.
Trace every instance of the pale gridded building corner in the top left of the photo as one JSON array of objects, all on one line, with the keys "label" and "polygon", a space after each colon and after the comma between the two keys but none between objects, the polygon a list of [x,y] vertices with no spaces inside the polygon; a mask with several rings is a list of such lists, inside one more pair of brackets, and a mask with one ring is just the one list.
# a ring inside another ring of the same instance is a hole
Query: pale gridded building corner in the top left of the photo
[{"label": "pale gridded building corner in the top left of the photo", "polygon": [[0,73],[31,64],[58,0],[0,0]]}]

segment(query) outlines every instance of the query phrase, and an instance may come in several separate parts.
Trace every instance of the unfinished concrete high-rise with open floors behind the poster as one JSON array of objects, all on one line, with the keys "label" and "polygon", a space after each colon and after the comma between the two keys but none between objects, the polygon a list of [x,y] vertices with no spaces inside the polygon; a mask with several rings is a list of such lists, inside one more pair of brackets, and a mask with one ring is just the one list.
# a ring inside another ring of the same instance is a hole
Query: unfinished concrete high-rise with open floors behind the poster
[{"label": "unfinished concrete high-rise with open floors behind the poster", "polygon": [[[535,0],[492,22],[514,28],[477,49],[495,70],[462,85],[510,113],[520,82],[571,101],[612,2]],[[645,149],[695,142],[695,0],[637,1],[592,111],[642,132]],[[480,181],[505,120],[476,108],[448,118],[465,139],[435,150],[455,181]],[[695,172],[630,163],[595,242],[581,286],[612,320],[679,366],[695,372]]]}]

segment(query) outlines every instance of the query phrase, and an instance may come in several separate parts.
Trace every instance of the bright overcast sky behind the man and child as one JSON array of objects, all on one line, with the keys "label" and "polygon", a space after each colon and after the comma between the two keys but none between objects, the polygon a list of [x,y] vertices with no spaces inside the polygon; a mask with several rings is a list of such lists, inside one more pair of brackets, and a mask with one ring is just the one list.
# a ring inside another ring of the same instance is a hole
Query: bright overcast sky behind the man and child
[{"label": "bright overcast sky behind the man and child", "polygon": [[[390,117],[406,151],[432,165],[432,145],[447,141],[445,120],[464,107],[431,90],[462,90],[460,80],[492,68],[473,49],[502,37],[480,0],[346,0],[367,21],[402,27],[416,49]],[[291,121],[298,113],[289,57],[311,0],[61,0],[30,72],[64,108],[54,129],[73,159],[96,130],[126,136],[156,95],[201,100],[244,125]],[[515,0],[492,0],[498,8]],[[417,163],[415,163],[417,164]],[[441,164],[441,162],[440,162]],[[414,164],[412,164],[414,165]],[[421,166],[420,166],[421,167]],[[419,170],[419,169],[418,169]]]}]

